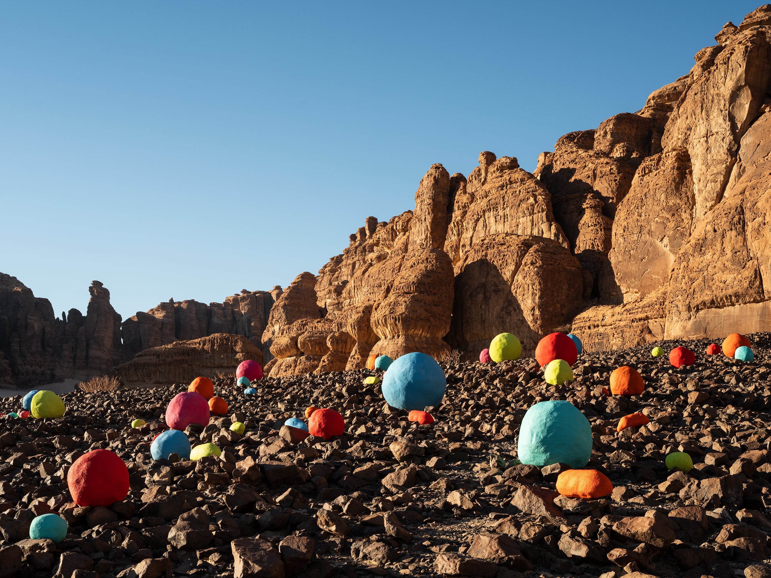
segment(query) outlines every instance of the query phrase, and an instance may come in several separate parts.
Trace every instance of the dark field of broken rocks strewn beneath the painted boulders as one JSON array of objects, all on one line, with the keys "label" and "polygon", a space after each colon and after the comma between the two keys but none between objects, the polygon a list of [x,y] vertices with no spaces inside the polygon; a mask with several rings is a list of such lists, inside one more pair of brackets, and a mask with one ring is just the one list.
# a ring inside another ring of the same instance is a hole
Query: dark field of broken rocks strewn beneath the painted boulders
[{"label": "dark field of broken rocks strewn beneath the painted boulders", "polygon": [[[365,385],[376,371],[265,378],[253,396],[217,379],[231,415],[186,433],[224,452],[198,462],[150,459],[185,384],[66,394],[62,418],[0,420],[0,576],[768,576],[771,334],[749,338],[756,361],[742,365],[705,355],[703,340],[685,343],[697,358],[679,370],[648,348],[584,353],[563,386],[547,385],[532,358],[443,365],[432,425]],[[642,395],[607,395],[619,365],[638,368]],[[608,498],[559,496],[565,466],[517,462],[522,417],[547,399],[591,422],[588,468],[614,483]],[[311,404],[342,412],[345,435],[302,439],[282,426]],[[616,432],[631,412],[650,424]],[[132,429],[134,418],[147,423]],[[64,483],[96,448],[130,470],[130,495],[109,509],[75,506]],[[694,469],[668,472],[673,451]],[[59,545],[28,536],[49,511],[69,523]]]}]

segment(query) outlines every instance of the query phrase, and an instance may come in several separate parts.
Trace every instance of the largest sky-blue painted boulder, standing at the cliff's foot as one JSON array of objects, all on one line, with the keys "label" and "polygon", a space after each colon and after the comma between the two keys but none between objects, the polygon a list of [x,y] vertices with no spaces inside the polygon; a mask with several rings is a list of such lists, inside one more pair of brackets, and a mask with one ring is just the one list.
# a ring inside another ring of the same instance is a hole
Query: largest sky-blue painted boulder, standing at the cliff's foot
[{"label": "largest sky-blue painted boulder, standing at the cliff's foot", "polygon": [[383,376],[383,397],[399,409],[439,407],[447,387],[444,371],[425,353],[408,353],[394,361]]}]

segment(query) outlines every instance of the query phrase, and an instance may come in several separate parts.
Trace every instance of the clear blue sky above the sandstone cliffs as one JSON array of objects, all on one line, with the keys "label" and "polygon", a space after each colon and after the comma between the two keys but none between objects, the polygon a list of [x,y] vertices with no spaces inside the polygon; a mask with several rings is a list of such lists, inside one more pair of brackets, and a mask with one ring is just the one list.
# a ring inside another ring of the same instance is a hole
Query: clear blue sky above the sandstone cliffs
[{"label": "clear blue sky above the sandstone cliffs", "polygon": [[56,314],[288,285],[423,173],[534,170],[759,2],[4,2],[0,271]]}]

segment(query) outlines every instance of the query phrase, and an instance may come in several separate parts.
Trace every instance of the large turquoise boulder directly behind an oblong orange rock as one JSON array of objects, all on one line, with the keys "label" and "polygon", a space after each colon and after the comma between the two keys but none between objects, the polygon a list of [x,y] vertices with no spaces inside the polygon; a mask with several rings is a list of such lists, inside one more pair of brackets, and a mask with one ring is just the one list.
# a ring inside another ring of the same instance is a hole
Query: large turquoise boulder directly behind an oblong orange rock
[{"label": "large turquoise boulder directly behind an oblong orange rock", "polygon": [[591,459],[591,425],[571,402],[540,402],[527,410],[517,447],[527,465],[563,463],[581,469]]}]

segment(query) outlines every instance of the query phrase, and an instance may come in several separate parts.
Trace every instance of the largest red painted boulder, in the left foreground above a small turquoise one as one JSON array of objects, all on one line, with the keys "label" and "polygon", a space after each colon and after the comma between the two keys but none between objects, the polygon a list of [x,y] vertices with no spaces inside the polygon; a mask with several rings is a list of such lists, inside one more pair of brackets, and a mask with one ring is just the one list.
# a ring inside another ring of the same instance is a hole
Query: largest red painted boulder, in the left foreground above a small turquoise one
[{"label": "largest red painted boulder, in the left foreground above a small turquoise one", "polygon": [[115,452],[95,449],[75,460],[67,473],[67,486],[78,506],[109,508],[126,499],[129,470]]}]

